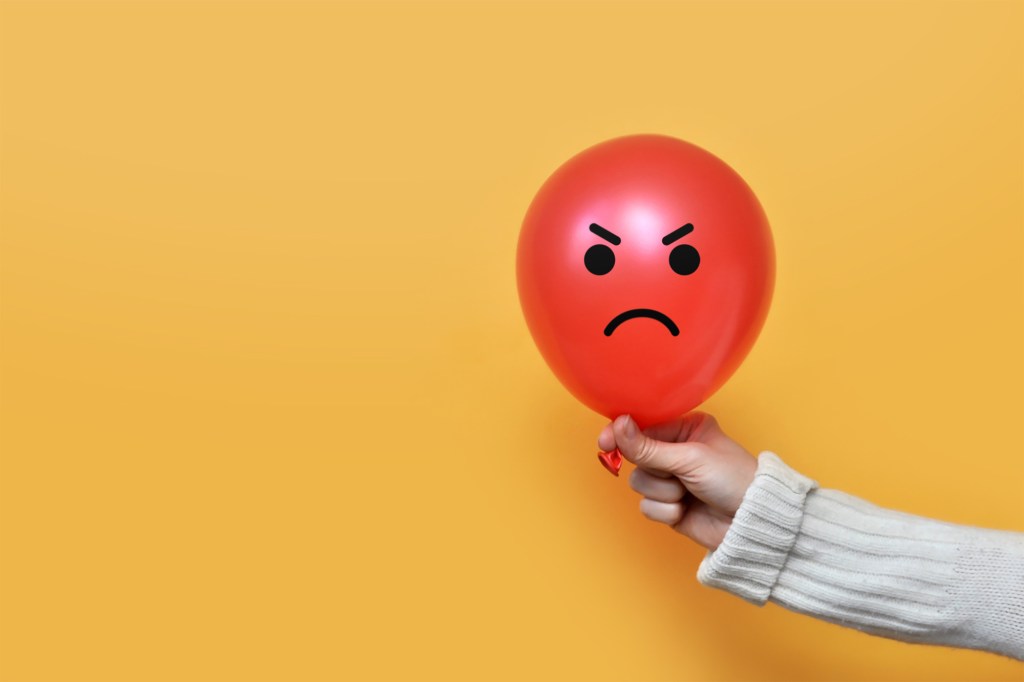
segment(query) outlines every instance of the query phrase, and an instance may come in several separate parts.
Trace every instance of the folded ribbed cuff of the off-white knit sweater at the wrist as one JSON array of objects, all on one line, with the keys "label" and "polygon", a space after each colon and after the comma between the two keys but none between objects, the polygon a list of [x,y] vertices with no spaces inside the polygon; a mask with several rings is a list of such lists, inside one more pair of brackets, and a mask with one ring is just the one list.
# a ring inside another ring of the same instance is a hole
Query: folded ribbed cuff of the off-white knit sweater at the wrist
[{"label": "folded ribbed cuff of the off-white knit sweater at the wrist", "polygon": [[754,482],[722,544],[701,561],[697,580],[764,604],[797,541],[805,498],[815,487],[774,453],[762,453]]}]

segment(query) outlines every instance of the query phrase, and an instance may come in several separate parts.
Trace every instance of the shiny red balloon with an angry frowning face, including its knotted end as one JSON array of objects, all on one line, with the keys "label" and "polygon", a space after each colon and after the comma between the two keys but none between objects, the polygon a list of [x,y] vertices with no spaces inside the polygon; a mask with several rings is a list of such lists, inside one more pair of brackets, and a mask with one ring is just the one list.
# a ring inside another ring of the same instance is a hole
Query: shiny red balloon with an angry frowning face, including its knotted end
[{"label": "shiny red balloon with an angry frowning face, including its knotted end", "polygon": [[[519,300],[565,387],[645,428],[732,375],[764,325],[771,232],[742,178],[688,142],[633,135],[548,178],[519,235]],[[617,452],[598,456],[618,473]]]}]

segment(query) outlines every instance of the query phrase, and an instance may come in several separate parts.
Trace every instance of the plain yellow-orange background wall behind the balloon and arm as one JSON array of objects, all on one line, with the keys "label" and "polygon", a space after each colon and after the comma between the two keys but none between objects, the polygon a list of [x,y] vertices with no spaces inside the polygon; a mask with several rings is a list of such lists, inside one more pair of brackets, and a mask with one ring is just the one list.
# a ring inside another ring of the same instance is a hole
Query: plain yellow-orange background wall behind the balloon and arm
[{"label": "plain yellow-orange background wall behind the balloon and arm", "polygon": [[518,308],[615,135],[731,164],[778,283],[706,406],[1024,528],[1022,4],[2,6],[4,680],[1012,680],[700,587]]}]

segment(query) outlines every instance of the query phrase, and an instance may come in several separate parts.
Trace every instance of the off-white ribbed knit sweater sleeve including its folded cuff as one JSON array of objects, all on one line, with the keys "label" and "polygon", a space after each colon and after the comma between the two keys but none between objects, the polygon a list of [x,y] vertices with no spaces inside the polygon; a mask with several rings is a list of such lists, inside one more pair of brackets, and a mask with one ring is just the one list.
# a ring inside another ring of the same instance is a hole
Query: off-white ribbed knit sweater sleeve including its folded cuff
[{"label": "off-white ribbed knit sweater sleeve including its folded cuff", "polygon": [[1024,534],[884,509],[772,453],[697,579],[882,637],[1024,659]]}]

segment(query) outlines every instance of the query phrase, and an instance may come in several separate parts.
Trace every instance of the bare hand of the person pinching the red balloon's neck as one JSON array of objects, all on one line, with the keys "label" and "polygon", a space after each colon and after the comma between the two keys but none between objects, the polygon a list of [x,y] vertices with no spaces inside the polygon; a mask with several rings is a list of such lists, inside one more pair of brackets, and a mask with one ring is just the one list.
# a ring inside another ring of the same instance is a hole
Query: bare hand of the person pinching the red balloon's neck
[{"label": "bare hand of the person pinching the red balloon's neck", "polygon": [[601,430],[597,444],[605,452],[617,447],[637,466],[630,487],[643,496],[644,516],[712,550],[725,538],[758,467],[701,412],[643,431],[624,415]]}]

